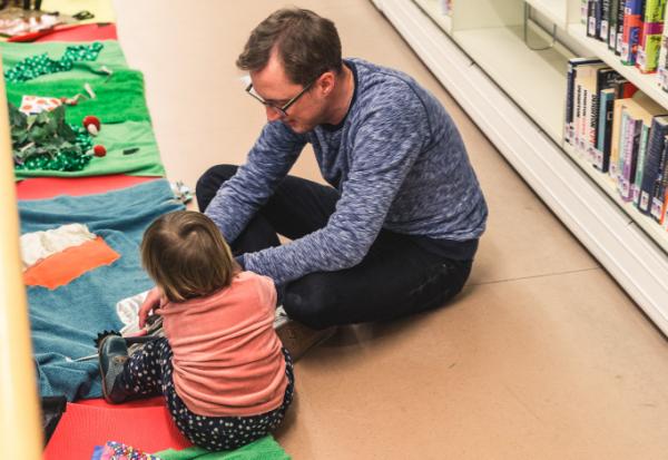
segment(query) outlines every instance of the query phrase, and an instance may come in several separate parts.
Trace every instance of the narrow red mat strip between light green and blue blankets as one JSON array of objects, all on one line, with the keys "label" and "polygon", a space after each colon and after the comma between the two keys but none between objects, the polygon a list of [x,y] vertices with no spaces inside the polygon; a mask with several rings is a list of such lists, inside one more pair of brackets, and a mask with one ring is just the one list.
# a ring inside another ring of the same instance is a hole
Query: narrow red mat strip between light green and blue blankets
[{"label": "narrow red mat strip between light green and blue blankets", "polygon": [[158,178],[124,174],[88,177],[35,177],[17,183],[17,197],[19,199],[45,199],[57,195],[101,194]]}]

